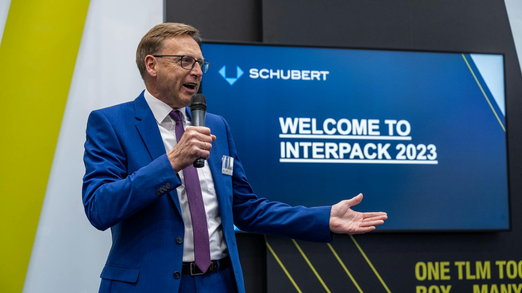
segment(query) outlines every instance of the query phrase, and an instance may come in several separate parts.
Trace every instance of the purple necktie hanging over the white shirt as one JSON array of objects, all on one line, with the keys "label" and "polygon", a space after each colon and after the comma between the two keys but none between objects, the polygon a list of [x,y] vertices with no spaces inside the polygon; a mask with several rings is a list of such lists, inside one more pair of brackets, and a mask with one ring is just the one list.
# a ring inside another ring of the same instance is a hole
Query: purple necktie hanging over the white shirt
[{"label": "purple necktie hanging over the white shirt", "polygon": [[[180,111],[172,111],[170,117],[176,121],[176,140],[180,142],[185,133]],[[188,207],[191,210],[192,228],[194,231],[194,260],[201,272],[206,272],[210,266],[210,243],[208,240],[207,216],[203,195],[199,185],[197,169],[190,165],[183,169],[185,190],[187,192]]]}]

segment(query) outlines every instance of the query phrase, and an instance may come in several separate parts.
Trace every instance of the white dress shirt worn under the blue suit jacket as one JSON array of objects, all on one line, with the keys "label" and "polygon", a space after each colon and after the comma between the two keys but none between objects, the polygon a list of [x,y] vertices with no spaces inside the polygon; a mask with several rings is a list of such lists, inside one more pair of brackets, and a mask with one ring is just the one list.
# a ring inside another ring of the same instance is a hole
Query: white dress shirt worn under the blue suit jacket
[{"label": "white dress shirt worn under the blue suit jacket", "polygon": [[[177,144],[176,141],[176,122],[169,113],[173,110],[171,106],[163,103],[152,96],[149,91],[145,90],[145,100],[149,104],[152,114],[156,118],[158,128],[161,133],[165,151],[169,152]],[[185,108],[176,109],[182,113],[183,128],[187,129],[191,126]],[[194,233],[192,230],[191,211],[188,207],[187,193],[185,190],[185,180],[183,179],[183,170],[179,173],[181,178],[181,186],[176,188],[177,197],[180,199],[181,215],[185,225],[185,237],[183,238],[183,262],[194,261]],[[221,217],[219,215],[218,200],[216,197],[216,189],[214,189],[214,181],[210,173],[210,167],[205,164],[203,168],[197,168],[199,184],[201,186],[201,194],[203,194],[203,203],[205,205],[205,213],[207,215],[208,236],[210,242],[210,259],[219,260],[228,255],[227,244],[223,238],[223,228],[221,226]]]}]

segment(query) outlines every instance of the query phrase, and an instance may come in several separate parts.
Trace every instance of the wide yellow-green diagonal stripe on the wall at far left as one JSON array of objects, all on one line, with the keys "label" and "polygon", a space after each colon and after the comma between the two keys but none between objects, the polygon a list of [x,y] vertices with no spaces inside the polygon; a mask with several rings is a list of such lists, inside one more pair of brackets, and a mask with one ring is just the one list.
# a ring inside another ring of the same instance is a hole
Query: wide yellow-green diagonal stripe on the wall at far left
[{"label": "wide yellow-green diagonal stripe on the wall at far left", "polygon": [[88,7],[88,0],[9,7],[0,45],[0,292],[23,288]]}]

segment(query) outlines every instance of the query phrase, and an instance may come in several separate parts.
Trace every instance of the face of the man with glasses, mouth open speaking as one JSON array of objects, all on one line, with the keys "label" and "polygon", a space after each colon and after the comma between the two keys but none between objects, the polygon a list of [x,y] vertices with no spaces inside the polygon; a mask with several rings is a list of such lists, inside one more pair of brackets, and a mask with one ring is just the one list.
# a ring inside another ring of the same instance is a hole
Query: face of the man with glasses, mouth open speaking
[{"label": "face of the man with glasses, mouth open speaking", "polygon": [[[201,50],[189,35],[174,36],[165,39],[163,48],[158,55],[186,55],[196,60],[203,59]],[[181,67],[180,57],[159,57],[157,81],[158,90],[164,101],[173,108],[181,108],[190,105],[201,83],[203,72],[199,64],[195,64],[191,70]]]}]

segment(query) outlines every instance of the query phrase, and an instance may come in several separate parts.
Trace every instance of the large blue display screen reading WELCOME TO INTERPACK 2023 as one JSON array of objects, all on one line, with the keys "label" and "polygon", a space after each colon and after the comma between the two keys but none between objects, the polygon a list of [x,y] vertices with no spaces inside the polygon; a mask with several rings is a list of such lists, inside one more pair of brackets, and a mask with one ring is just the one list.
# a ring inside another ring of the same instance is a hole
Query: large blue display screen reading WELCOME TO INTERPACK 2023
[{"label": "large blue display screen reading WELCOME TO INTERPACK 2023", "polygon": [[[509,229],[503,55],[205,43],[258,197],[364,194],[379,230]],[[220,138],[218,138],[220,139]]]}]

